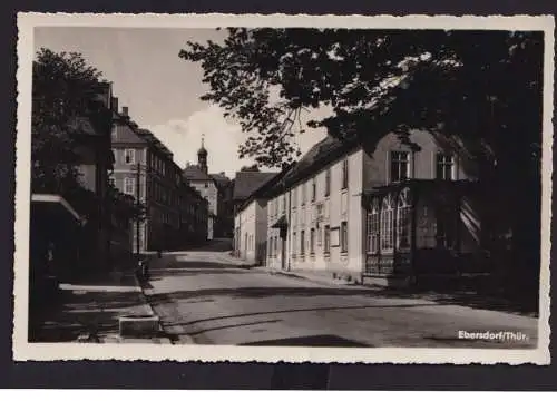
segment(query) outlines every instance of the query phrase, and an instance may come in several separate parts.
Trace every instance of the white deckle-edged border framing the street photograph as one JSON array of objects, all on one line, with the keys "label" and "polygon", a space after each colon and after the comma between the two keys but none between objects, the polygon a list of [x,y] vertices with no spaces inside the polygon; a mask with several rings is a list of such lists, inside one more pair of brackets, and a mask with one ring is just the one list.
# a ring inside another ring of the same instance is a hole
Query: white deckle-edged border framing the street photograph
[{"label": "white deckle-edged border framing the street photograph", "polygon": [[[28,274],[30,214],[30,116],[31,67],[35,27],[118,27],[118,28],[216,28],[216,27],[346,27],[374,29],[499,29],[543,30],[545,32],[541,272],[538,346],[535,350],[417,349],[417,348],[291,348],[165,344],[29,343]],[[553,173],[553,16],[452,17],[452,16],[285,16],[285,14],[18,14],[18,111],[14,222],[14,317],[13,358],[17,361],[125,360],[203,362],[335,362],[335,363],[453,363],[548,364],[550,221]]]}]

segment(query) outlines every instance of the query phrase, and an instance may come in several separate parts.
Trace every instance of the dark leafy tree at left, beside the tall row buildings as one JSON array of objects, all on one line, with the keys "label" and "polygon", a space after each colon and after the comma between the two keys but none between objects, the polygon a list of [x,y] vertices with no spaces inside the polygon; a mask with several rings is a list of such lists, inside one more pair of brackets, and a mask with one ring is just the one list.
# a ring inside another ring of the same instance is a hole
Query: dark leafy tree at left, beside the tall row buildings
[{"label": "dark leafy tree at left, beside the tall row buildings", "polygon": [[76,137],[99,105],[101,74],[81,55],[40,49],[32,69],[31,186],[33,192],[79,190]]}]

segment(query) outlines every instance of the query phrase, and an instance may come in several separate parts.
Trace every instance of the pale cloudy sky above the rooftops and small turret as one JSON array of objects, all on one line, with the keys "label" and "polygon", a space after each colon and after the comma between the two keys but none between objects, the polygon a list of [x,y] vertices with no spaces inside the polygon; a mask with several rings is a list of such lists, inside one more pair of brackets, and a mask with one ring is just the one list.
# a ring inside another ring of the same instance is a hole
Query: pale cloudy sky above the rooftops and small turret
[{"label": "pale cloudy sky above the rooftops and small turret", "polygon": [[[245,134],[217,105],[199,100],[208,89],[203,70],[178,57],[187,41],[221,41],[225,35],[215,29],[41,27],[35,30],[35,50],[80,52],[113,81],[119,107],[127,106],[131,119],[152,130],[180,167],[197,163],[204,135],[209,173],[232,178],[253,164],[237,156]],[[306,130],[295,140],[305,153],[323,137],[322,130]]]}]

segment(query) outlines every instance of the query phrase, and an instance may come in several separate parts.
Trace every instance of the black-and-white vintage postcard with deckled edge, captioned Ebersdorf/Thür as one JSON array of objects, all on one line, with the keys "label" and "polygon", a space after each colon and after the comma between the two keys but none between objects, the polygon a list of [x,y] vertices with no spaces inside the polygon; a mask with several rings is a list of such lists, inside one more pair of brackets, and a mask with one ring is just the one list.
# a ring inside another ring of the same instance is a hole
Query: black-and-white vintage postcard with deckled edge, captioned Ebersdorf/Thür
[{"label": "black-and-white vintage postcard with deckled edge, captioned Ebersdorf/Th\u00fcr", "polygon": [[554,19],[18,16],[18,361],[549,358]]}]

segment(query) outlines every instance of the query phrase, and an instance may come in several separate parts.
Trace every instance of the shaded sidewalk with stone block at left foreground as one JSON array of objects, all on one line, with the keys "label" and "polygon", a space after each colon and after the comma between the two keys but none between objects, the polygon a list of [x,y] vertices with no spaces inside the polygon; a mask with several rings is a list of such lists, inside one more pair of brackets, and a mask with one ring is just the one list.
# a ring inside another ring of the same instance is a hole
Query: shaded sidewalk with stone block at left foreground
[{"label": "shaded sidewalk with stone block at left foreground", "polygon": [[30,312],[30,342],[169,343],[118,335],[120,316],[154,314],[133,271],[89,275],[59,288],[57,300]]}]

